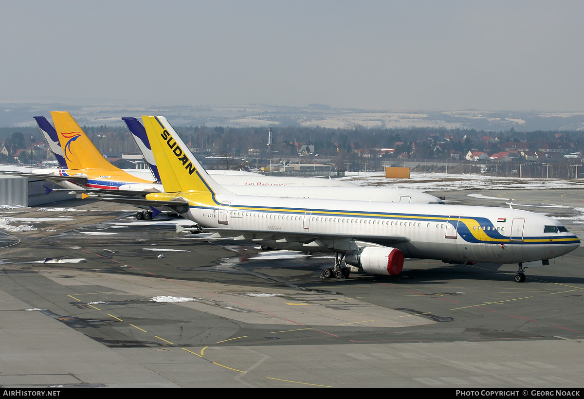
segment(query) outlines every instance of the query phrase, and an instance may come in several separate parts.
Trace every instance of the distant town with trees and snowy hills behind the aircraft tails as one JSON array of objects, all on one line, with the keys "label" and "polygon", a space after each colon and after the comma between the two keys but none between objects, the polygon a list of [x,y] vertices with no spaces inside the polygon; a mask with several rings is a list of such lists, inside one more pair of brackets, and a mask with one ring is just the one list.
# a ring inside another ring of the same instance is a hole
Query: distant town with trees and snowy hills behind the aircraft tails
[{"label": "distant town with trees and snowy hills behind the aircraft tails", "polygon": [[584,150],[584,113],[381,112],[318,104],[1,106],[3,164],[54,161],[32,119],[50,116],[50,110],[69,110],[96,147],[122,168],[145,166],[120,117],[147,114],[166,116],[208,168],[257,168],[272,174],[339,175],[407,165],[413,171],[450,168],[451,173],[576,178]]}]

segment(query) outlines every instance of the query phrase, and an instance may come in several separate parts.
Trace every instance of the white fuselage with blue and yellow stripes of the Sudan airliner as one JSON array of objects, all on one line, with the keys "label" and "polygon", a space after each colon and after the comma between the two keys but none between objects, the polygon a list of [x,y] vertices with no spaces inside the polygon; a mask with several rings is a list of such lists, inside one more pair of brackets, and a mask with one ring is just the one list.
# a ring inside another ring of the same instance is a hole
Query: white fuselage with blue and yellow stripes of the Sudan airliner
[{"label": "white fuselage with blue and yellow stripes of the Sudan airliner", "polygon": [[580,244],[567,231],[544,233],[545,225],[563,228],[558,221],[516,209],[232,195],[215,202],[192,204],[183,216],[204,227],[249,231],[244,240],[272,248],[335,251],[335,241],[349,239],[398,248],[409,258],[520,263]]}]

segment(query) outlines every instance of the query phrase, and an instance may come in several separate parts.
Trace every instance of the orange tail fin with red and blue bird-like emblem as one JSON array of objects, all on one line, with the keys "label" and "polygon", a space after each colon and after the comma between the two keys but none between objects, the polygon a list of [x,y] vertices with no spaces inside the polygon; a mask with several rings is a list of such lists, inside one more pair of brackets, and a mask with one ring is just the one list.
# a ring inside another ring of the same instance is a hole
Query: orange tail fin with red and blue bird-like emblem
[{"label": "orange tail fin with red and blue bird-like emblem", "polygon": [[68,169],[104,169],[120,171],[113,166],[93,145],[68,112],[51,112],[55,130],[67,161]]}]

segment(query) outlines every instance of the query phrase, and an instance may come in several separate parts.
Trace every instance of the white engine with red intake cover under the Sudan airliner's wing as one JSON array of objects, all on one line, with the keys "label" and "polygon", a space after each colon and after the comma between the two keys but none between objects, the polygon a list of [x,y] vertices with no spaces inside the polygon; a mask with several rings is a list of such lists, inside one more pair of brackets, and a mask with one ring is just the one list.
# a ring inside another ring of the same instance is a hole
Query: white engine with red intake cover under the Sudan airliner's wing
[{"label": "white engine with red intake cover under the Sudan airliner's wing", "polygon": [[397,248],[362,247],[347,254],[345,263],[371,275],[396,276],[404,268],[404,254]]}]

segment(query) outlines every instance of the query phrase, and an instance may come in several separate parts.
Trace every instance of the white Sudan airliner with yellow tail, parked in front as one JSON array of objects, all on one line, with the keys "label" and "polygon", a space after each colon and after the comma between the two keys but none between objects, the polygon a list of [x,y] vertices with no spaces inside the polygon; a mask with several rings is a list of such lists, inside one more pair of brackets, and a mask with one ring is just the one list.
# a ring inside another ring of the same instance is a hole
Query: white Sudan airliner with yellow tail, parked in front
[{"label": "white Sudan airliner with yellow tail, parked in front", "polygon": [[142,121],[164,192],[133,203],[170,207],[197,223],[195,231],[211,231],[212,237],[333,252],[335,264],[324,270],[326,278],[346,278],[357,270],[395,276],[407,257],[517,263],[514,280],[524,282],[526,268],[548,265],[580,245],[559,221],[512,207],[237,195],[207,174],[164,117],[142,116]]}]

